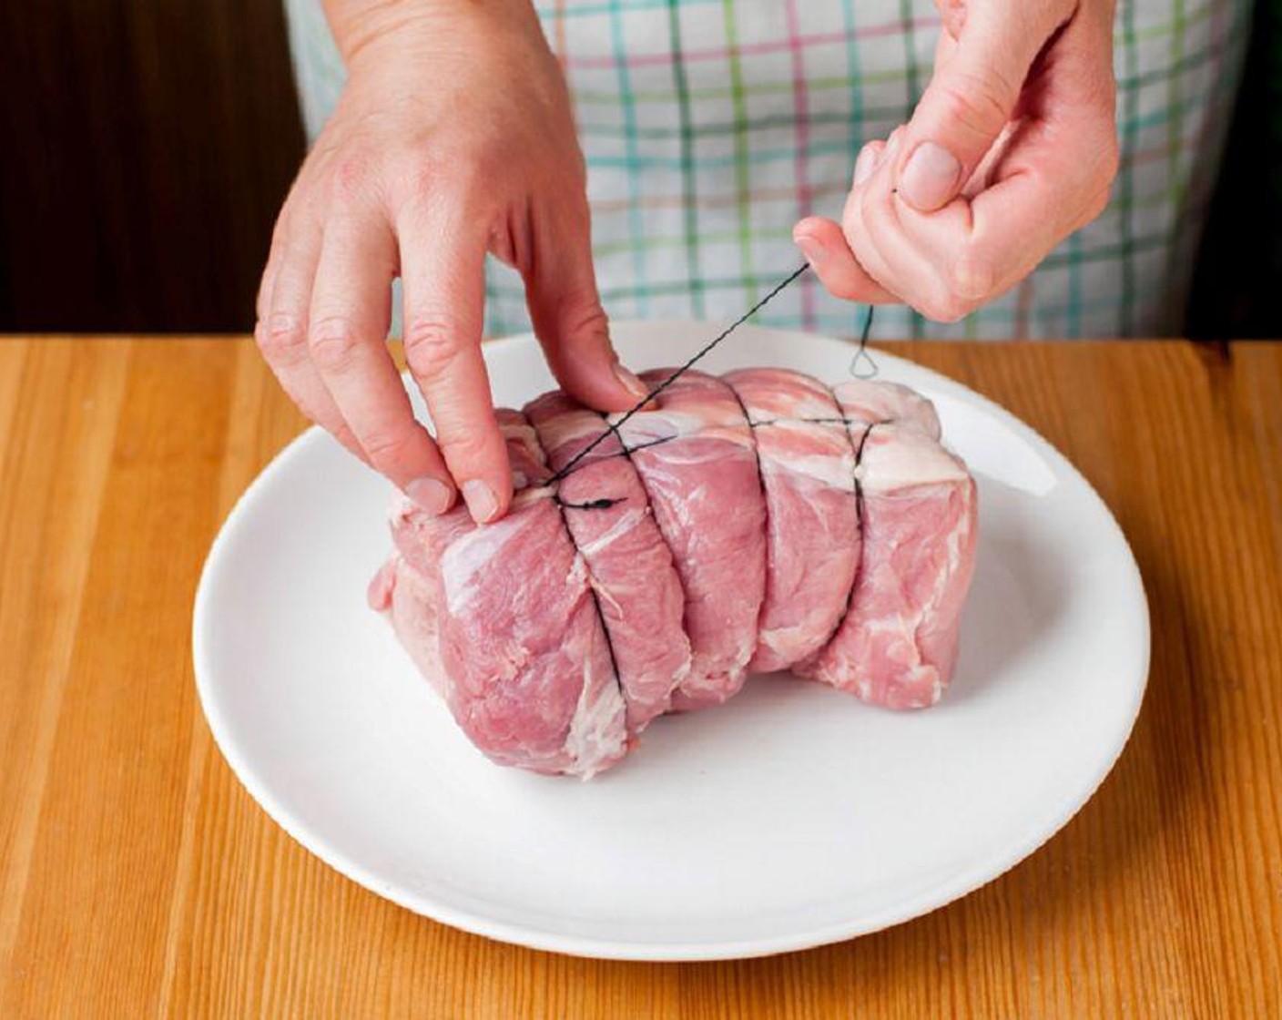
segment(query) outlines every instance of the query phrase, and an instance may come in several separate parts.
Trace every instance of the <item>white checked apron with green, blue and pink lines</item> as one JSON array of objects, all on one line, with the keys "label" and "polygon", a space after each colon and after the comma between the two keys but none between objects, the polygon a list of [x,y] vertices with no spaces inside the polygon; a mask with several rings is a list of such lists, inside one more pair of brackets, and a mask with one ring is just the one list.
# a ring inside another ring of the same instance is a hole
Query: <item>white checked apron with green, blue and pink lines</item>
[{"label": "white checked apron with green, blue and pink lines", "polygon": [[[342,85],[318,0],[285,0],[312,137]],[[929,80],[929,0],[541,0],[588,167],[613,317],[735,318],[800,264],[792,225],[840,214],[855,155]],[[878,310],[878,337],[1163,336],[1182,327],[1251,0],[1120,0],[1113,200],[1023,284],[955,325]],[[491,259],[487,328],[528,328]],[[810,276],[765,325],[858,332]]]}]

